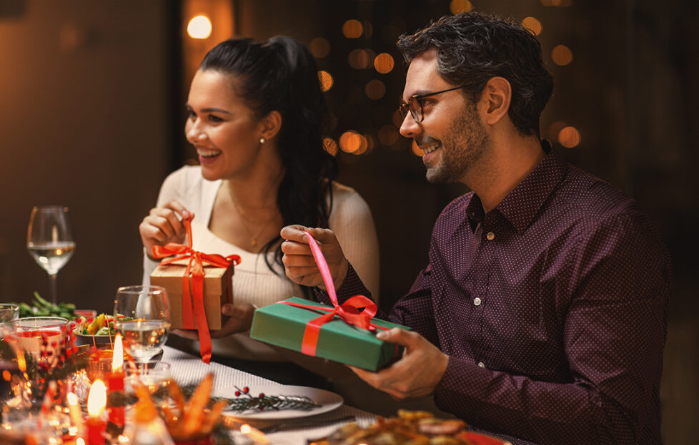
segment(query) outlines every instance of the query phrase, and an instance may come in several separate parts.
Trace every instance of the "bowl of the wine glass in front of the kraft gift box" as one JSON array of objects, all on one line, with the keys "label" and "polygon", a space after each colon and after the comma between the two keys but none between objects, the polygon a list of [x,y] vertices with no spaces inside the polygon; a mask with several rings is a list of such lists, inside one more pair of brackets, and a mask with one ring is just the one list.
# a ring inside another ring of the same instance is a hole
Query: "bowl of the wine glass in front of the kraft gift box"
[{"label": "bowl of the wine glass in front of the kraft gift box", "polygon": [[159,354],[170,332],[167,292],[159,286],[119,287],[114,300],[114,329],[136,362]]}]

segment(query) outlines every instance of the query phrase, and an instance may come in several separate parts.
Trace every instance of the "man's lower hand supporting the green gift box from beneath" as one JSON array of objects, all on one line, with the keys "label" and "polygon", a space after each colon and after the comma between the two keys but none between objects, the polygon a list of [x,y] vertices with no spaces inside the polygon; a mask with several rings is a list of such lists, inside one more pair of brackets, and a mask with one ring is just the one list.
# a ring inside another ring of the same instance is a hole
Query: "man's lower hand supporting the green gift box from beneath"
[{"label": "man's lower hand supporting the green gift box from beneath", "polygon": [[379,372],[350,367],[355,374],[396,400],[417,399],[435,391],[447,370],[447,354],[442,353],[417,332],[400,327],[380,332],[376,337],[405,347],[403,357]]}]

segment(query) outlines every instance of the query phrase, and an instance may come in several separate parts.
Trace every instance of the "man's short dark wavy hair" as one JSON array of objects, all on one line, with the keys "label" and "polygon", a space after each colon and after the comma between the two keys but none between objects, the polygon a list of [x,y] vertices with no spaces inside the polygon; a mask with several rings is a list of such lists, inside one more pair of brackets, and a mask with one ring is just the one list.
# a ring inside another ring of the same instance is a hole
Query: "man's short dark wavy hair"
[{"label": "man's short dark wavy hair", "polygon": [[412,36],[398,39],[406,63],[437,49],[437,71],[454,85],[465,86],[477,101],[495,76],[510,82],[508,115],[524,135],[539,136],[539,116],[553,91],[553,78],[541,58],[539,41],[522,25],[487,14],[444,16]]}]

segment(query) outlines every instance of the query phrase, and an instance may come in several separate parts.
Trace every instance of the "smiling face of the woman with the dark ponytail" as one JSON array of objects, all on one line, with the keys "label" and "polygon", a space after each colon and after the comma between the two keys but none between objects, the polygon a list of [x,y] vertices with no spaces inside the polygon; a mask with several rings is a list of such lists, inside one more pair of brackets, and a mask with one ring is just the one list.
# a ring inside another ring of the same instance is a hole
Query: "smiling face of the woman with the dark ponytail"
[{"label": "smiling face of the woman with the dark ponytail", "polygon": [[229,75],[197,71],[187,98],[184,134],[199,155],[207,180],[249,173],[259,161],[262,125],[233,91]]}]

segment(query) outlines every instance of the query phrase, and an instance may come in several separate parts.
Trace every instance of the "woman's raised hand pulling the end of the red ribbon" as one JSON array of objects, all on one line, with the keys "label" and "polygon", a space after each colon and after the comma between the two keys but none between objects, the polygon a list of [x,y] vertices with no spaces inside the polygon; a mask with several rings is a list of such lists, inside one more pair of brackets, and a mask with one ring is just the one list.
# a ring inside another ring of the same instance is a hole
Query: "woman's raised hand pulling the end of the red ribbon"
[{"label": "woman's raised hand pulling the end of the red ribbon", "polygon": [[189,216],[194,218],[194,214],[177,200],[170,201],[164,207],[151,209],[139,225],[143,247],[146,248],[149,258],[153,259],[154,245],[163,246],[168,242],[184,243],[187,231],[184,229],[182,218]]}]

